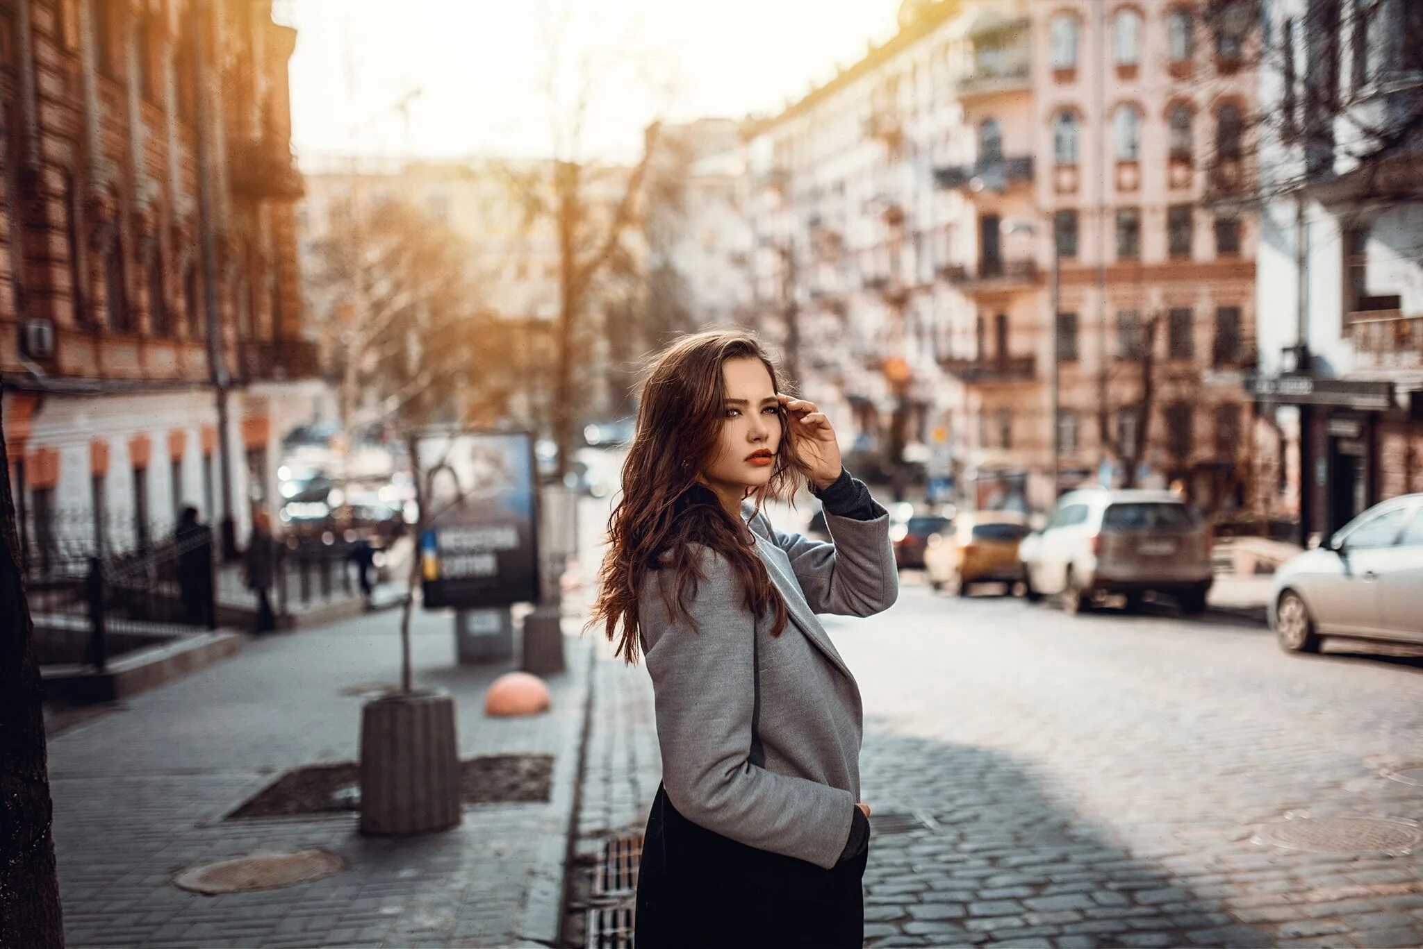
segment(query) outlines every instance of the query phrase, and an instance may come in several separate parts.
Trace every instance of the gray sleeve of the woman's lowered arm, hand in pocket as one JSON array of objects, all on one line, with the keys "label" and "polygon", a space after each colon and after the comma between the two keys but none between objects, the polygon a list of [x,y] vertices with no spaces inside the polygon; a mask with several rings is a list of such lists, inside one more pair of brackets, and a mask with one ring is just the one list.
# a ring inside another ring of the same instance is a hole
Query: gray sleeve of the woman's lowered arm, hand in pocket
[{"label": "gray sleeve of the woman's lowered arm, hand in pocket", "polygon": [[656,589],[663,572],[649,575],[642,598],[667,797],[709,831],[830,869],[850,838],[855,798],[751,764],[756,620],[726,559],[703,549],[700,565],[706,578],[686,603],[699,629],[667,619]]}]

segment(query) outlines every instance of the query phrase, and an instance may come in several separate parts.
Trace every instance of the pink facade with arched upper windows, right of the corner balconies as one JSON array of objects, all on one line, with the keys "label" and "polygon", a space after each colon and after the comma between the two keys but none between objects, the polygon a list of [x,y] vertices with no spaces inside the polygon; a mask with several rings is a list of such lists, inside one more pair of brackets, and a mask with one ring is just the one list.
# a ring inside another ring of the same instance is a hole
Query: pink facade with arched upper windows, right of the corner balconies
[{"label": "pink facade with arched upper windows, right of the corner balconies", "polygon": [[1181,0],[1033,4],[1064,488],[1175,485],[1208,511],[1248,504],[1252,26]]}]

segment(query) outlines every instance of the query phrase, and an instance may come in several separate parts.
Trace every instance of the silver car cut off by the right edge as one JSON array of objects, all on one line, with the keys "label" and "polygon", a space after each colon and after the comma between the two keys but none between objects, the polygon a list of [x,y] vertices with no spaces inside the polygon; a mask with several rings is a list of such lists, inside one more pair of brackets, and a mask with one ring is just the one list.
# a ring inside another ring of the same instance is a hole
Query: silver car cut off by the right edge
[{"label": "silver car cut off by the right edge", "polygon": [[1423,643],[1423,494],[1376,504],[1275,571],[1269,625],[1284,649],[1322,636]]}]

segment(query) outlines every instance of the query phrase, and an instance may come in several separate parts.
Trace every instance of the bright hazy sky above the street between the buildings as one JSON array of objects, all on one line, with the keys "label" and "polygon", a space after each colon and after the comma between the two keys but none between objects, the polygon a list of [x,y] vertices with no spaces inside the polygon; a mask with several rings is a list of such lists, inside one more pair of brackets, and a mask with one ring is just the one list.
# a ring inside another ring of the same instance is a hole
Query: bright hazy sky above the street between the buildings
[{"label": "bright hazy sky above the street between the buildings", "polygon": [[[894,33],[899,0],[289,0],[293,139],[306,155],[544,155],[556,77],[592,80],[586,148],[629,155],[657,114],[777,111]],[[586,63],[586,67],[582,65]]]}]

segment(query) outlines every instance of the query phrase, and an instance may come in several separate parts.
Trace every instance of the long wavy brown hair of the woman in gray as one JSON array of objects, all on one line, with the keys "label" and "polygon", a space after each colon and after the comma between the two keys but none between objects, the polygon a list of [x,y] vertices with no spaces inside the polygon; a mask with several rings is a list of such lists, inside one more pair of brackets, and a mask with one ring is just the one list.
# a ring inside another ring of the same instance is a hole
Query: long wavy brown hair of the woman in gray
[{"label": "long wavy brown hair of the woman in gray", "polygon": [[[720,553],[736,571],[746,590],[746,606],[760,615],[776,610],[773,635],[785,629],[785,602],[766,565],[746,542],[746,528],[727,514],[716,494],[697,475],[713,461],[726,418],[727,360],[761,360],[777,393],[787,381],[756,336],[739,330],[709,330],[684,336],[652,357],[643,369],[638,428],[622,471],[622,498],[608,521],[608,552],[598,572],[598,599],[585,630],[602,623],[616,654],[628,663],[642,656],[638,593],[653,571],[667,569],[676,580],[676,598],[662,583],[669,616],[687,615],[686,596],[696,595],[706,579],[697,568],[693,544]],[[794,450],[794,435],[781,411],[781,438],[770,481],[754,491],[756,509],[768,498],[793,499],[808,470]]]}]

